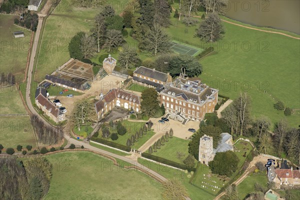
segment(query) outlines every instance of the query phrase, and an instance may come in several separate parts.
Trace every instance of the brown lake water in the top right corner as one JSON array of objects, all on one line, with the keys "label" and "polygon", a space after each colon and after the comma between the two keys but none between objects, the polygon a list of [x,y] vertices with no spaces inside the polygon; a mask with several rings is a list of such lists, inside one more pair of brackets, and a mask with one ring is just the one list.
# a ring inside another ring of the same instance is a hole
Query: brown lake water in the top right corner
[{"label": "brown lake water in the top right corner", "polygon": [[228,0],[225,16],[300,34],[300,0]]}]

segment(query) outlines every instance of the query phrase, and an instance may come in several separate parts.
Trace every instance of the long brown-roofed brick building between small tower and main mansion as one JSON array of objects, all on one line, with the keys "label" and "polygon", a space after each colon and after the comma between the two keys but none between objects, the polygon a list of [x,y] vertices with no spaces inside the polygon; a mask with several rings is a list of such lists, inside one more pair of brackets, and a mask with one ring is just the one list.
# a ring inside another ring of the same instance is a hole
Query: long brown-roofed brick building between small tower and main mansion
[{"label": "long brown-roofed brick building between small tower and main mansion", "polygon": [[155,68],[150,69],[140,66],[133,71],[132,82],[143,86],[154,87],[158,92],[163,89],[164,84],[171,81],[172,77],[169,73],[157,71]]}]

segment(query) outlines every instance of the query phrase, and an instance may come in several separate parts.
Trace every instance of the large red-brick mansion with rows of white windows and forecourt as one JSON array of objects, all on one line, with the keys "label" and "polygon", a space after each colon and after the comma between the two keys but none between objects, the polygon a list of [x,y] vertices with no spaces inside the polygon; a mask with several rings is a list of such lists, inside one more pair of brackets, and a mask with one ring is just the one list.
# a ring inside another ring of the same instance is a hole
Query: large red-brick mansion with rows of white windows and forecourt
[{"label": "large red-brick mansion with rows of white windows and forecourt", "polygon": [[166,84],[160,92],[160,103],[169,117],[185,123],[187,120],[201,121],[205,113],[213,112],[218,90],[199,80],[177,78]]}]

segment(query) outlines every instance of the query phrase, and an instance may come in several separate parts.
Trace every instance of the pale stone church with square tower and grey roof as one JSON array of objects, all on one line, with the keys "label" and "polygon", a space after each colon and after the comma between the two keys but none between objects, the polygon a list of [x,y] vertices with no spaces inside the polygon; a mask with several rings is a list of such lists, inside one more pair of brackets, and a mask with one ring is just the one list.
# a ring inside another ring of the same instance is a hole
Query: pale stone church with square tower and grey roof
[{"label": "pale stone church with square tower and grey roof", "polygon": [[208,162],[213,160],[215,153],[225,152],[227,150],[233,151],[232,136],[227,132],[221,133],[221,140],[216,148],[212,147],[213,140],[211,136],[204,134],[199,142],[199,161],[208,165]]}]

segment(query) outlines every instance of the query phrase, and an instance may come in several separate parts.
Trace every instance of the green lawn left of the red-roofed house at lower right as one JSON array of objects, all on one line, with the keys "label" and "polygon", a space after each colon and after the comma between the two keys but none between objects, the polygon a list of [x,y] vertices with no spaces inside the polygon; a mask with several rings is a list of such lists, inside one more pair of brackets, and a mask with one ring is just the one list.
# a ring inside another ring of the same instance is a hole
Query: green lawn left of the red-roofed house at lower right
[{"label": "green lawn left of the red-roofed house at lower right", "polygon": [[267,186],[267,178],[265,173],[252,173],[248,175],[241,183],[237,185],[237,191],[240,199],[246,197],[248,193],[254,192],[254,184],[259,183],[262,186]]}]

